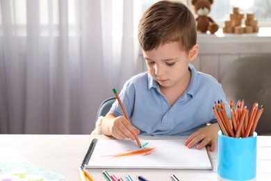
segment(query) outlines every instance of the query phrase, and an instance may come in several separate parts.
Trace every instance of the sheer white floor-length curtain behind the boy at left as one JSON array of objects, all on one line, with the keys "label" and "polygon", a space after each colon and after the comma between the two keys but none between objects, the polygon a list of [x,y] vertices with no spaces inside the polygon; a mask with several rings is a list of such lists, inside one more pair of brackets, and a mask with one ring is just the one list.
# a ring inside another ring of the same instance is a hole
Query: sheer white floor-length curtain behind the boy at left
[{"label": "sheer white floor-length curtain behind the boy at left", "polygon": [[0,6],[0,133],[90,134],[112,88],[142,71],[140,1]]}]

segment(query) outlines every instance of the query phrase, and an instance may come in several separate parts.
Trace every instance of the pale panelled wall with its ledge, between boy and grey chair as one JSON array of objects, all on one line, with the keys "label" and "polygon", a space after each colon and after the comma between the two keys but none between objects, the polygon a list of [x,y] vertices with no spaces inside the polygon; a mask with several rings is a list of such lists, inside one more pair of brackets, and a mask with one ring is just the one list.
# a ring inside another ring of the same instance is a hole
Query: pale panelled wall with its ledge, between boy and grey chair
[{"label": "pale panelled wall with its ledge, between boy and grey chair", "polygon": [[199,56],[192,64],[201,72],[222,79],[227,66],[244,56],[271,57],[271,28],[260,28],[259,33],[198,35]]}]

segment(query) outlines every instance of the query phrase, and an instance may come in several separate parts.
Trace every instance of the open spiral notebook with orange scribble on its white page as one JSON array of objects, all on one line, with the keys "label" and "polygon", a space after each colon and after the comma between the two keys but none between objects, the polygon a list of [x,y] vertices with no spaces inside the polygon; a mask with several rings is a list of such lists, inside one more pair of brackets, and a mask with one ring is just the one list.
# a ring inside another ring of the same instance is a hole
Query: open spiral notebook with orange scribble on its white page
[{"label": "open spiral notebook with orange scribble on its white page", "polygon": [[185,139],[93,139],[81,168],[213,169],[206,148],[187,148]]}]

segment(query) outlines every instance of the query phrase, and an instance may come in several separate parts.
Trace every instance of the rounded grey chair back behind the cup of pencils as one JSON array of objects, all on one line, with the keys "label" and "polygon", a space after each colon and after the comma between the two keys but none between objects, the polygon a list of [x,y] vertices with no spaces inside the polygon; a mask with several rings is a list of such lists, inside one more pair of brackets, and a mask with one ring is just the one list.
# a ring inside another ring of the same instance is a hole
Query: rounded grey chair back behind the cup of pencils
[{"label": "rounded grey chair back behind the cup of pencils", "polygon": [[258,135],[271,135],[271,56],[249,56],[231,63],[221,79],[227,102],[239,99],[252,109],[258,102],[264,106],[256,132]]}]

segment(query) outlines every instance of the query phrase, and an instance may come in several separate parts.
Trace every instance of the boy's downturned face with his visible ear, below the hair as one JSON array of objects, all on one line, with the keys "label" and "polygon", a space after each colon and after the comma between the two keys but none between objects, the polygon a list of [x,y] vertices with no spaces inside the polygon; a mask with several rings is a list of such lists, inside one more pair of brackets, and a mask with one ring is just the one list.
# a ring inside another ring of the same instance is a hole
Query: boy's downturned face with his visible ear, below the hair
[{"label": "boy's downturned face with his visible ear, below the hair", "polygon": [[152,51],[143,51],[143,56],[151,77],[160,86],[172,87],[190,80],[188,65],[197,57],[197,52],[198,45],[186,52],[178,42],[168,42]]}]

